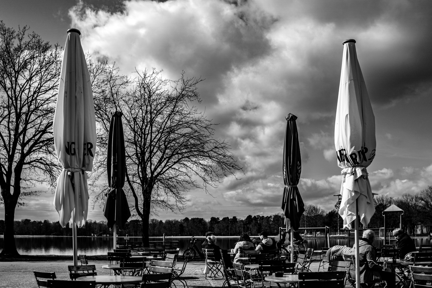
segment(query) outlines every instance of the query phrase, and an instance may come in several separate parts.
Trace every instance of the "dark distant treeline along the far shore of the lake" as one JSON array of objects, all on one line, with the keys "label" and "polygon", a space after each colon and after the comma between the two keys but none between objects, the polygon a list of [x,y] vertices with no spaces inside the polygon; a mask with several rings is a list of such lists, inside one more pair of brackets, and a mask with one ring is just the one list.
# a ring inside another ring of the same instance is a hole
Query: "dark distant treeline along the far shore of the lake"
[{"label": "dark distant treeline along the far shore of the lake", "polygon": [[[336,199],[335,199],[336,200]],[[335,201],[336,202],[336,201]],[[381,213],[391,204],[395,204],[404,210],[402,215],[402,228],[409,234],[430,233],[430,223],[432,222],[432,187],[422,190],[420,193],[404,194],[400,198],[392,198],[387,195],[375,196],[375,214],[369,223],[370,228],[379,228],[384,225],[384,218]],[[386,226],[388,228],[399,227],[399,213],[388,213],[386,216]],[[339,224],[339,225],[338,225]],[[300,219],[300,227],[330,227],[330,233],[335,234],[338,227],[343,228],[342,218],[337,209],[325,212],[319,206],[306,205],[305,212]],[[270,235],[279,233],[279,227],[285,227],[284,216],[282,213],[271,216],[248,215],[244,219],[235,216],[232,218],[211,217],[210,220],[204,218],[183,218],[158,220],[152,218],[149,221],[149,236],[204,236],[206,231],[213,231],[219,236],[237,236],[241,233],[258,235],[260,231],[266,230]],[[22,219],[15,221],[16,235],[59,235],[71,236],[72,229],[68,226],[62,228],[59,222],[32,221]],[[120,236],[141,237],[141,220],[130,220],[126,223],[123,231],[119,231]],[[4,229],[4,220],[0,220],[0,233]],[[2,233],[3,234],[3,233]],[[78,229],[78,236],[92,236],[112,234],[106,221],[86,222],[85,227]]]}]

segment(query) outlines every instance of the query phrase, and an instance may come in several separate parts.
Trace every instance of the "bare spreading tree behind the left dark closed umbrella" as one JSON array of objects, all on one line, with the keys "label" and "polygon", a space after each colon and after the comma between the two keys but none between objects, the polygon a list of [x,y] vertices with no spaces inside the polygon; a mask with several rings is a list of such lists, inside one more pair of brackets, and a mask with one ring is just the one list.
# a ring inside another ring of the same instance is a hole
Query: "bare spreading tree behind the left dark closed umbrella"
[{"label": "bare spreading tree behind the left dark closed umbrella", "polygon": [[[90,66],[94,75],[109,67],[97,65]],[[107,69],[99,73],[102,80],[94,77],[94,82],[102,83],[101,93],[94,93],[96,121],[107,133],[111,114],[115,110],[124,114],[126,177],[136,215],[143,222],[146,247],[150,214],[157,215],[161,209],[181,211],[187,202],[184,192],[191,188],[207,191],[223,177],[243,171],[229,153],[228,143],[213,138],[216,124],[194,106],[201,101],[197,92],[201,79],[182,73],[177,81],[166,80],[153,69],[137,72],[131,80],[120,76],[114,66]],[[104,192],[96,199],[102,200]]]}]

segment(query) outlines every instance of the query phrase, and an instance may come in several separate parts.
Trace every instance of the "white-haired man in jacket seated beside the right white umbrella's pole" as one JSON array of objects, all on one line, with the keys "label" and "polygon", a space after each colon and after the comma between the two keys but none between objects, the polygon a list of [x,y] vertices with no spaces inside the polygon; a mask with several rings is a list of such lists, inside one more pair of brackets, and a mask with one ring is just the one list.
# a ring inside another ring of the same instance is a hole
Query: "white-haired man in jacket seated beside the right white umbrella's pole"
[{"label": "white-haired man in jacket seated beside the right white umbrella's pole", "polygon": [[[359,240],[359,261],[360,261],[360,283],[387,282],[388,288],[395,288],[396,275],[393,272],[385,272],[376,263],[375,248],[372,246],[375,233],[372,230],[363,231],[363,237]],[[353,247],[355,251],[355,244]],[[350,271],[351,277],[356,278],[356,272]]]}]

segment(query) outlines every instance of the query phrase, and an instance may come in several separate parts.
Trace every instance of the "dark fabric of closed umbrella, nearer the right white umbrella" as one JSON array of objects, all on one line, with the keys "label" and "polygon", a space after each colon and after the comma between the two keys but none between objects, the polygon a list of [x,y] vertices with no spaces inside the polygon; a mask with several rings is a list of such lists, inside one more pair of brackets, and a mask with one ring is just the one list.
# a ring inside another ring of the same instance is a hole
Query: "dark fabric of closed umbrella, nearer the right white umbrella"
[{"label": "dark fabric of closed umbrella, nearer the right white umbrella", "polygon": [[305,212],[305,204],[300,196],[299,184],[302,172],[302,159],[300,157],[299,133],[297,132],[297,117],[288,114],[286,117],[285,141],[283,144],[283,190],[282,209],[289,221],[288,226],[294,230],[300,227],[300,217]]}]

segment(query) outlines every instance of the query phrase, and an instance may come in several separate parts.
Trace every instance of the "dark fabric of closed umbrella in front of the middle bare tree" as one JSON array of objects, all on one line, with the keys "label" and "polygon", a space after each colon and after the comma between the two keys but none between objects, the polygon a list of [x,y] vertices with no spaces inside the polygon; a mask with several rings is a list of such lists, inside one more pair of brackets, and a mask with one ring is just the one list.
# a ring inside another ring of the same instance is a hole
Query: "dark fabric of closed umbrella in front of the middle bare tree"
[{"label": "dark fabric of closed umbrella in front of the middle bare tree", "polygon": [[108,185],[111,189],[107,194],[104,207],[104,216],[108,220],[108,227],[113,227],[117,223],[120,230],[130,218],[129,203],[127,203],[126,195],[122,189],[126,176],[126,155],[121,116],[121,112],[115,111],[109,127],[107,171]]}]

